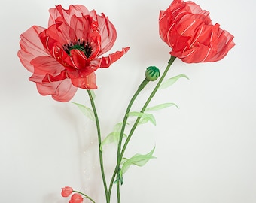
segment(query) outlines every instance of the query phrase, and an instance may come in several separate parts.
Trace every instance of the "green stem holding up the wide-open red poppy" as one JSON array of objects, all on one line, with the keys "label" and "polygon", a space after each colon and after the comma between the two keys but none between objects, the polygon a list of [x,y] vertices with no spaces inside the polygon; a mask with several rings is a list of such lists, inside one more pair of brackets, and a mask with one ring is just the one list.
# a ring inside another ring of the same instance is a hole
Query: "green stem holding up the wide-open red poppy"
[{"label": "green stem holding up the wide-open red poppy", "polygon": [[96,106],[93,101],[93,95],[90,92],[90,90],[87,90],[89,98],[90,98],[90,104],[92,105],[93,108],[93,114],[96,120],[96,128],[97,128],[97,135],[98,135],[98,144],[99,144],[99,163],[100,163],[100,170],[102,173],[102,180],[103,180],[103,185],[104,185],[104,190],[105,190],[105,198],[107,203],[110,203],[110,196],[108,195],[108,186],[105,180],[105,172],[104,172],[104,165],[103,165],[103,155],[102,155],[102,150],[100,150],[100,146],[102,144],[102,137],[101,137],[101,132],[100,132],[100,126],[99,126],[99,117],[96,111]]}]

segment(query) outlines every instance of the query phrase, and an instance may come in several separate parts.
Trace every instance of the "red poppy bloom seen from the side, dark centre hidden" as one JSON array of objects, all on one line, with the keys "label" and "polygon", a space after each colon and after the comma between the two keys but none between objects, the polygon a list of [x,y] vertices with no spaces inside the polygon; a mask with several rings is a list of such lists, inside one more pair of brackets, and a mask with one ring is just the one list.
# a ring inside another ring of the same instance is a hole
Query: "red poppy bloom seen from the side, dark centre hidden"
[{"label": "red poppy bloom seen from the side, dark centre hidden", "polygon": [[160,37],[170,54],[187,63],[215,62],[224,58],[235,45],[233,35],[212,25],[209,11],[194,2],[174,0],[166,11],[160,11]]}]

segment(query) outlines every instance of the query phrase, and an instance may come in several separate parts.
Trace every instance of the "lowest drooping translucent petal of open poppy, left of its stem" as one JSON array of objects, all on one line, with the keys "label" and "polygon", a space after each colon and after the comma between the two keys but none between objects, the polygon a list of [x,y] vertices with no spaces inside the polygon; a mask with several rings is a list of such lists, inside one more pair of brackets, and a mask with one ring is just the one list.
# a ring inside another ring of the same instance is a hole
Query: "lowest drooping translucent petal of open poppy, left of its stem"
[{"label": "lowest drooping translucent petal of open poppy, left of its stem", "polygon": [[41,95],[52,95],[52,98],[59,102],[69,102],[78,89],[72,85],[70,79],[51,83],[36,83],[36,87]]}]

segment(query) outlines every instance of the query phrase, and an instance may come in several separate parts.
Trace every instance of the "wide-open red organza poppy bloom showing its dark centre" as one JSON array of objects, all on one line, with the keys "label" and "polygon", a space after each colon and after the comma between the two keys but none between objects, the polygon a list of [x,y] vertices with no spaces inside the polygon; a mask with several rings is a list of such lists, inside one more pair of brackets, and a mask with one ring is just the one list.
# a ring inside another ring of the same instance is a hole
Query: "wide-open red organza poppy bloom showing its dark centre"
[{"label": "wide-open red organza poppy bloom showing its dark centre", "polygon": [[48,28],[32,26],[20,35],[18,56],[31,71],[29,80],[36,83],[41,95],[52,95],[68,102],[79,88],[96,89],[96,71],[108,68],[129,47],[101,57],[114,45],[117,32],[105,17],[88,11],[83,5],[68,10],[50,8]]}]

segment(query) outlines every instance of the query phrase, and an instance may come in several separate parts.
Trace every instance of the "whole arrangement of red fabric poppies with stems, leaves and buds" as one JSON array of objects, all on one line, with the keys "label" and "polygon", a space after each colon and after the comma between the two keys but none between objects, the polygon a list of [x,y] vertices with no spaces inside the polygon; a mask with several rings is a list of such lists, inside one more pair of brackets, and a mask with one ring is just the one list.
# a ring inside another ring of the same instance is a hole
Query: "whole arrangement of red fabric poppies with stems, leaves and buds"
[{"label": "whole arrangement of red fabric poppies with stems, leaves and buds", "polygon": [[[160,38],[172,48],[170,59],[163,74],[155,66],[145,71],[145,80],[131,98],[123,116],[123,121],[114,126],[114,131],[103,139],[100,131],[99,117],[94,102],[93,89],[96,86],[96,70],[108,68],[113,62],[120,59],[129,47],[120,51],[102,56],[111,50],[117,38],[114,25],[105,14],[96,14],[88,11],[83,5],[70,5],[69,9],[57,5],[50,8],[48,28],[32,26],[20,35],[20,50],[18,56],[23,66],[32,76],[30,81],[35,82],[41,95],[51,95],[59,102],[69,102],[78,88],[85,89],[89,95],[91,108],[75,103],[81,111],[96,123],[99,162],[102,175],[102,186],[105,191],[105,201],[111,202],[113,186],[117,187],[117,202],[120,203],[120,185],[123,183],[123,174],[131,165],[145,165],[153,159],[154,149],[147,154],[139,154],[125,158],[124,153],[136,127],[142,123],[155,123],[153,114],[148,111],[166,108],[173,103],[164,103],[148,108],[151,99],[160,88],[171,86],[184,74],[165,80],[172,63],[176,58],[187,63],[216,62],[224,58],[235,45],[233,35],[220,28],[219,24],[212,24],[209,11],[204,11],[194,2],[174,0],[169,8],[160,11],[159,33]],[[154,80],[156,85],[151,95],[142,106],[141,111],[131,111],[133,102],[145,86]],[[129,117],[136,117],[130,132],[126,133]],[[102,146],[111,142],[117,143],[117,160],[109,183],[106,181]],[[69,203],[81,203],[84,199],[96,202],[90,194],[75,191],[71,186],[62,188],[61,195],[71,198]]]}]

